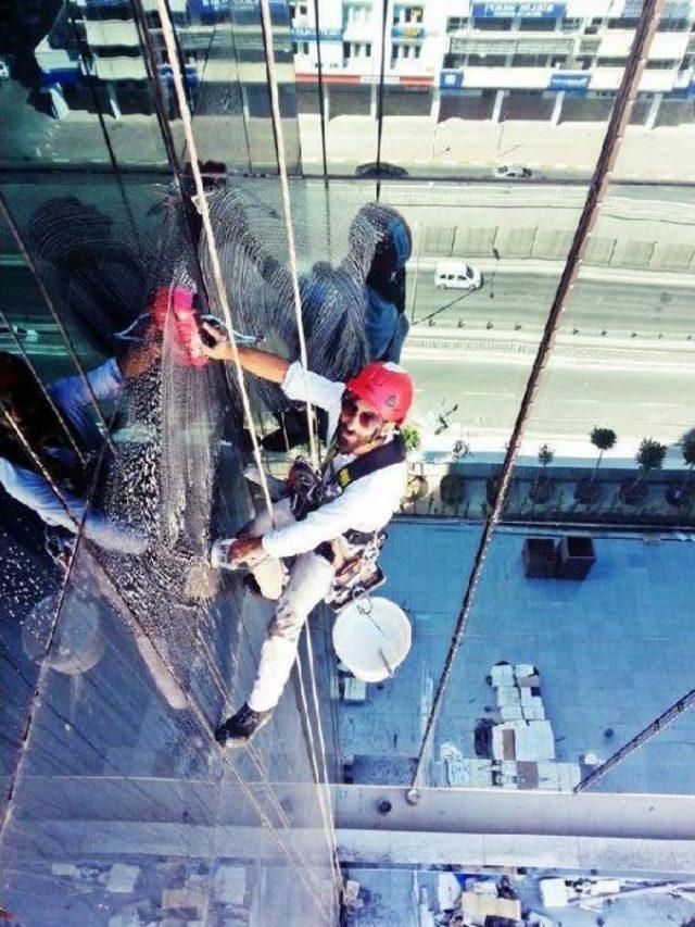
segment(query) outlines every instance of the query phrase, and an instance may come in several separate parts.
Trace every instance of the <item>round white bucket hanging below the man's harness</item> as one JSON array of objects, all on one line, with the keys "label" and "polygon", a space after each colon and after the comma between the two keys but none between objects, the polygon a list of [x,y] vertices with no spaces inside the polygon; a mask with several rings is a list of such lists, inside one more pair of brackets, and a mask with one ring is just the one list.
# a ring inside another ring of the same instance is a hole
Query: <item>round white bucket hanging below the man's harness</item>
[{"label": "round white bucket hanging below the man's harness", "polygon": [[333,624],[333,647],[357,679],[381,682],[393,676],[410,650],[410,622],[389,599],[358,599]]}]

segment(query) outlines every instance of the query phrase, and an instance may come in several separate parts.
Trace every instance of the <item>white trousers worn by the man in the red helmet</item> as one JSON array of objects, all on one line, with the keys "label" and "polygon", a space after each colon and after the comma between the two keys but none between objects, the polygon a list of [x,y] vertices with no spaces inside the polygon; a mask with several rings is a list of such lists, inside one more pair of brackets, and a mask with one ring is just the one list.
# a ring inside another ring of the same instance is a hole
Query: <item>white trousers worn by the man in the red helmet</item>
[{"label": "white trousers worn by the man in the red helmet", "polygon": [[[290,500],[281,499],[273,506],[276,527],[294,521]],[[271,522],[264,512],[251,522],[243,531],[258,537],[269,530]],[[268,559],[253,569],[258,585],[264,589],[273,571],[281,569],[279,561]],[[292,671],[296,656],[300,634],[309,613],[326,598],[333,584],[334,572],[330,563],[311,551],[294,558],[285,591],[275,606],[275,615],[261,648],[261,661],[255,682],[247,704],[254,712],[274,709],[280,700],[282,689]]]}]

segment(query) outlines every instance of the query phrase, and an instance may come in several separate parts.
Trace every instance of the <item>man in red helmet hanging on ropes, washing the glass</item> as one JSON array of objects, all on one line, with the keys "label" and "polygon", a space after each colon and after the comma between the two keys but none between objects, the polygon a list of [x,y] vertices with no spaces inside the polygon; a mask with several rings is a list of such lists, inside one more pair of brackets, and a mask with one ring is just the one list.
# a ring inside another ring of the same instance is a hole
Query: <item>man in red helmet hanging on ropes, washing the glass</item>
[{"label": "man in red helmet hanging on ropes, washing the glass", "polygon": [[[218,343],[208,355],[230,360],[231,346],[218,331],[210,335]],[[376,565],[381,529],[405,489],[399,426],[413,401],[410,377],[396,364],[370,363],[344,384],[306,373],[299,361],[290,364],[251,348],[238,351],[244,369],[281,384],[292,400],[325,409],[332,440],[319,474],[306,464],[293,468],[292,493],[273,506],[271,516],[262,514],[240,537],[213,548],[213,565],[253,568],[266,593],[280,559],[293,561],[285,589],[273,597],[279,596],[251,694],[217,730],[228,747],[243,747],[269,721],[312,610],[321,600],[340,601],[341,582],[364,581],[365,556]]]}]

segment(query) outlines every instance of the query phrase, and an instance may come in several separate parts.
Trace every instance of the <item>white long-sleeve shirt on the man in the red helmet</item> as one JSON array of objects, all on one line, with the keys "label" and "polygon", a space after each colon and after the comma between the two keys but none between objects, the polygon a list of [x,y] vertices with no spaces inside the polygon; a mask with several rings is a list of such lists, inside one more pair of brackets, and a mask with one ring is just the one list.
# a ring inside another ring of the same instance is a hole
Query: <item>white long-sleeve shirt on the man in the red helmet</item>
[{"label": "white long-sleeve shirt on the man in the red helmet", "polygon": [[[308,381],[308,393],[306,383]],[[340,421],[340,403],[345,384],[333,383],[318,374],[305,373],[301,363],[290,365],[282,390],[289,399],[311,401],[328,412],[328,434],[334,435]],[[355,460],[355,454],[337,454],[331,461],[332,473]],[[324,541],[332,541],[351,528],[377,531],[397,511],[407,477],[405,461],[363,476],[350,484],[331,502],[316,509],[301,522],[268,531],[263,536],[263,549],[270,556],[293,556],[314,550]]]}]

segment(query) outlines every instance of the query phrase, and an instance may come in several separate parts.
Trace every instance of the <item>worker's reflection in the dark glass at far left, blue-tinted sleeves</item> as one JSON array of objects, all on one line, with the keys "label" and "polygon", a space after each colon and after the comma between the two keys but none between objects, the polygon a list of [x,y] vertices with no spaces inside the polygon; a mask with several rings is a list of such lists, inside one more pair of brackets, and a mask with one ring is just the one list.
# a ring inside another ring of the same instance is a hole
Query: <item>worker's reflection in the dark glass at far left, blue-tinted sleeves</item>
[{"label": "worker's reflection in the dark glass at far left, blue-tinted sleeves", "polygon": [[[112,358],[91,371],[87,378],[94,398],[115,399],[125,380],[151,366],[159,353],[153,340],[122,360]],[[147,538],[141,531],[93,509],[85,514],[92,465],[103,442],[90,415],[92,397],[85,381],[79,376],[66,377],[50,384],[46,392],[50,401],[25,361],[0,352],[0,485],[49,526],[75,534],[84,519],[85,537],[100,547],[122,553],[142,552]],[[51,481],[59,487],[62,500]]]}]

